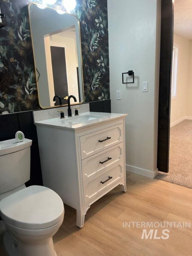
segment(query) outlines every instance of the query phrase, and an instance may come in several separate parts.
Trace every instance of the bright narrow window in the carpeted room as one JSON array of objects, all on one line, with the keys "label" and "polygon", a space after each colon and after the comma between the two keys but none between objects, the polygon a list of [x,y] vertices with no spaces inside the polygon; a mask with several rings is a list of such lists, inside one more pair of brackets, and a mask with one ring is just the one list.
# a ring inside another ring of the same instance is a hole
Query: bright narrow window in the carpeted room
[{"label": "bright narrow window in the carpeted room", "polygon": [[176,99],[177,92],[177,62],[179,46],[173,45],[173,62],[172,62],[172,81],[171,81],[171,99]]}]

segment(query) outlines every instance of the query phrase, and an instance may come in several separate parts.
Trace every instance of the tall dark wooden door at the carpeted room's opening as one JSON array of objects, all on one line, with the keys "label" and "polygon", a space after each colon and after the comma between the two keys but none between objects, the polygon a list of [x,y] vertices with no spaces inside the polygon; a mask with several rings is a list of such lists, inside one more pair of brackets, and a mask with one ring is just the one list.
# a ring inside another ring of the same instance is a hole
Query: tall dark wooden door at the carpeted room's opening
[{"label": "tall dark wooden door at the carpeted room's opening", "polygon": [[162,0],[157,167],[163,172],[169,171],[172,54],[173,2]]}]

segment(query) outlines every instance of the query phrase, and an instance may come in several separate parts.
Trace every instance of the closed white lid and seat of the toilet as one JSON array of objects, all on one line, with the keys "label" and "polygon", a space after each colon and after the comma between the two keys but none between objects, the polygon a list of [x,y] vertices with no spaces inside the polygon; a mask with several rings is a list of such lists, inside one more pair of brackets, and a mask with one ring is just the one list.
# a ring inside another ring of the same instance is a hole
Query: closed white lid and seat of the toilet
[{"label": "closed white lid and seat of the toilet", "polygon": [[25,229],[42,229],[58,223],[64,215],[61,197],[43,186],[30,186],[0,201],[2,219]]}]

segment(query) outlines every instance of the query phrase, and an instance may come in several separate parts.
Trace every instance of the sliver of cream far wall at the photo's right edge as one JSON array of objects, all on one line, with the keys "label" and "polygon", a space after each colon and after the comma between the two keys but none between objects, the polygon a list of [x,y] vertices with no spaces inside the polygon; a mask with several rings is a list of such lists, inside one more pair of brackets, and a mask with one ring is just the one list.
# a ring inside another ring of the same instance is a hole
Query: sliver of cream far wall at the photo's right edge
[{"label": "sliver of cream far wall at the photo's right edge", "polygon": [[189,77],[187,87],[187,110],[186,116],[192,118],[192,41],[190,41]]}]

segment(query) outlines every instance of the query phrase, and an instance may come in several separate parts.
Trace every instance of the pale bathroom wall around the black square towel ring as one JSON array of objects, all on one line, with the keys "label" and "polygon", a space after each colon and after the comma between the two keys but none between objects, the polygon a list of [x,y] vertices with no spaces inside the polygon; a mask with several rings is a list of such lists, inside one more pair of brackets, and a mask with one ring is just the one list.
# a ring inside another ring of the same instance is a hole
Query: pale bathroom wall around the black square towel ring
[{"label": "pale bathroom wall around the black square towel ring", "polygon": [[[114,113],[126,119],[126,164],[129,171],[157,174],[160,0],[109,0],[110,94]],[[122,84],[122,72],[134,70],[134,84]],[[142,92],[142,82],[149,92]],[[122,100],[116,100],[121,90]]]}]

